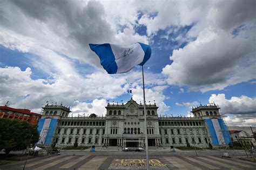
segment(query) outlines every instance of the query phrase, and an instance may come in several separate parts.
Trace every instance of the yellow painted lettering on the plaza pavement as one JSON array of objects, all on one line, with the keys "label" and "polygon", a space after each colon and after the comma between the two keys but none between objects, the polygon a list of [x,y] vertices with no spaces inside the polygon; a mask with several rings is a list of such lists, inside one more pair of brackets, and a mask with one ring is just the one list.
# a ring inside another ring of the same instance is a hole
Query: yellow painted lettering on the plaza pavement
[{"label": "yellow painted lettering on the plaza pavement", "polygon": [[[147,166],[146,159],[114,159],[110,166]],[[149,160],[150,166],[166,166],[158,159],[150,159]]]}]

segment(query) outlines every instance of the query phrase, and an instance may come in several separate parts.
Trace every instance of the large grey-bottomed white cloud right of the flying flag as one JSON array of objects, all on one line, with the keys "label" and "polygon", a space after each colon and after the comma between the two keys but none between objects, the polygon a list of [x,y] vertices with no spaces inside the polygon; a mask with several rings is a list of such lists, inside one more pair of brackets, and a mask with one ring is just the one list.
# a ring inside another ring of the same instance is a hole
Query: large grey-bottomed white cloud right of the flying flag
[{"label": "large grey-bottomed white cloud right of the flying flag", "polygon": [[255,78],[253,37],[235,37],[207,28],[194,42],[173,51],[171,65],[162,71],[168,84],[190,90],[222,90]]}]

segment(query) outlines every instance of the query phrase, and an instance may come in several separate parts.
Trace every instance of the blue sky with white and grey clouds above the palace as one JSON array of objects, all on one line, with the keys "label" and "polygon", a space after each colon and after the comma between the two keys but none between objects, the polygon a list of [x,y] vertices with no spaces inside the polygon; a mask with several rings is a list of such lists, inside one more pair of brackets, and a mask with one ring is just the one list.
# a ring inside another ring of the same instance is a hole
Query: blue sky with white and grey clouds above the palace
[{"label": "blue sky with white and grey clouds above the palace", "polygon": [[73,115],[143,101],[142,68],[107,74],[89,43],[149,44],[146,103],[190,115],[216,103],[228,125],[256,125],[256,1],[0,1],[0,105]]}]

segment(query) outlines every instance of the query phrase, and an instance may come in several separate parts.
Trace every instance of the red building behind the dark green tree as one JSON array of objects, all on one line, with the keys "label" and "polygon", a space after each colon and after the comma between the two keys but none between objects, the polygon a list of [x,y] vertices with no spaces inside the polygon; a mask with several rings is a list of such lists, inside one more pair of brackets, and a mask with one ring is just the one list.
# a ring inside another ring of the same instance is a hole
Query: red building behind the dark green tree
[{"label": "red building behind the dark green tree", "polygon": [[26,120],[31,125],[37,125],[41,116],[41,114],[33,113],[24,108],[0,106],[0,118]]}]

